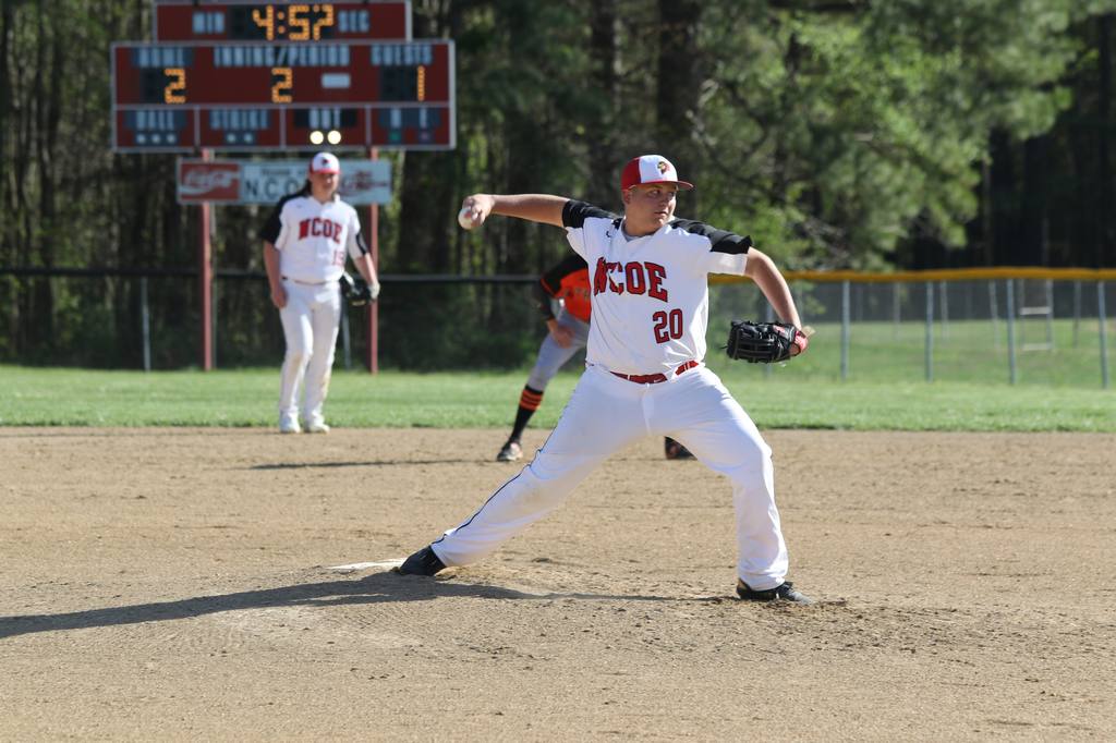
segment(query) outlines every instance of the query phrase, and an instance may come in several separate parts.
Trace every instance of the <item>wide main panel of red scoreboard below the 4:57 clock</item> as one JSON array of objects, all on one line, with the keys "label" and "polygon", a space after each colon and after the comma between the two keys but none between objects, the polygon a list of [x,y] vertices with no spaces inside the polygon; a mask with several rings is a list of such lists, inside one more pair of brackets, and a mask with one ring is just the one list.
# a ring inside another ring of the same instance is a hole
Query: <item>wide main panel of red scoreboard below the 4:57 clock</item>
[{"label": "wide main panel of red scoreboard below the 4:57 clock", "polygon": [[117,151],[455,146],[450,40],[116,44],[112,73]]}]

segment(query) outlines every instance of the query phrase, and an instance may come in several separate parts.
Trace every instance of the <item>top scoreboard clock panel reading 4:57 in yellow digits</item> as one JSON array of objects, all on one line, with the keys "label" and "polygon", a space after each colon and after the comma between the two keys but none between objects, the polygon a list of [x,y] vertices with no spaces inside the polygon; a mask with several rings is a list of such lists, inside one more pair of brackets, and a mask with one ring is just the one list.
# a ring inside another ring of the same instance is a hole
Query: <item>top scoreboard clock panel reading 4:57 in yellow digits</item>
[{"label": "top scoreboard clock panel reading 4:57 in yellow digits", "polygon": [[156,0],[160,41],[411,39],[411,3]]}]

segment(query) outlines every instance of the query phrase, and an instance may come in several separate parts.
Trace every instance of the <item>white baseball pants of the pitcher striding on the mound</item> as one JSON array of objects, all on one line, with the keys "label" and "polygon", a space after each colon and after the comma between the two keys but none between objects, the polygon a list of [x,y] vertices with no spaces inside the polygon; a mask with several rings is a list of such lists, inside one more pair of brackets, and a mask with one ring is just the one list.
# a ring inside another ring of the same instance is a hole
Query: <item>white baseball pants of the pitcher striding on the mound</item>
[{"label": "white baseball pants of the pitcher striding on the mound", "polygon": [[446,566],[471,565],[554,511],[598,464],[644,436],[670,436],[732,483],[739,577],[753,590],[783,582],[787,546],[775,504],[771,448],[704,366],[635,384],[599,366],[581,375],[535,459],[473,515],[432,544]]}]

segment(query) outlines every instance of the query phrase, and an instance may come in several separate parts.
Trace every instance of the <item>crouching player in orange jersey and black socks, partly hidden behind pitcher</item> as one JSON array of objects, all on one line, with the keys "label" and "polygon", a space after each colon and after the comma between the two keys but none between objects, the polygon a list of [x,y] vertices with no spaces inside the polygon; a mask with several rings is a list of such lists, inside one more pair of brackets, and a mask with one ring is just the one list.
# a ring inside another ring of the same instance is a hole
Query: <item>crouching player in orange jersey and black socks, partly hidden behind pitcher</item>
[{"label": "crouching player in orange jersey and black socks, partly hidden behind pitcher", "polygon": [[[522,436],[535,411],[542,405],[547,385],[574,354],[585,348],[589,341],[589,321],[593,316],[591,284],[589,267],[580,255],[573,254],[549,268],[532,287],[535,303],[547,324],[547,337],[539,346],[523,390],[519,394],[519,407],[508,441],[496,455],[497,462],[517,462],[523,457]],[[558,315],[550,307],[551,299],[560,305]],[[693,459],[685,446],[667,436],[664,451],[668,460]]]}]

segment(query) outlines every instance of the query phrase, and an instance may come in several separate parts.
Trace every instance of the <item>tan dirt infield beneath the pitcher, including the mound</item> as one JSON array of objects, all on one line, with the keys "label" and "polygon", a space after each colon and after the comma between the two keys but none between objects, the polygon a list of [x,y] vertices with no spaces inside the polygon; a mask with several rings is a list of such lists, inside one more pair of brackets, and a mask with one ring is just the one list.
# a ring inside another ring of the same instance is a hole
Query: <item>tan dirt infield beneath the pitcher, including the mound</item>
[{"label": "tan dirt infield beneath the pitcher, including the mound", "polygon": [[812,607],[732,598],[728,484],[652,440],[479,566],[334,569],[501,436],[0,430],[0,739],[1116,737],[1116,436],[766,432]]}]

